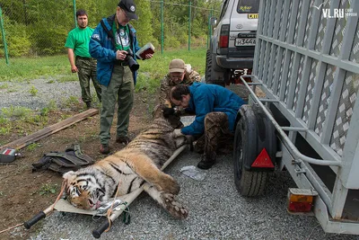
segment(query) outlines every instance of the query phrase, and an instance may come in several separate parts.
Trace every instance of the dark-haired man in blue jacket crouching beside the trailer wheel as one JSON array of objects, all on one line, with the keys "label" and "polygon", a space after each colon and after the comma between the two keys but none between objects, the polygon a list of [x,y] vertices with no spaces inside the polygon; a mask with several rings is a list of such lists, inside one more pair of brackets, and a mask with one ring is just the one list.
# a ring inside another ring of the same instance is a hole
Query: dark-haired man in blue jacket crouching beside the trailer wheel
[{"label": "dark-haired man in blue jacket crouching beside the trailer wheel", "polygon": [[204,156],[197,167],[211,168],[215,164],[218,145],[228,144],[233,138],[237,111],[245,102],[223,86],[200,83],[172,87],[171,102],[196,113],[196,119],[189,126],[175,129],[174,134],[195,138],[204,135]]}]

